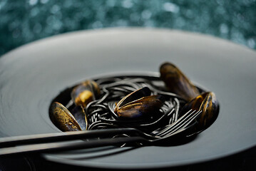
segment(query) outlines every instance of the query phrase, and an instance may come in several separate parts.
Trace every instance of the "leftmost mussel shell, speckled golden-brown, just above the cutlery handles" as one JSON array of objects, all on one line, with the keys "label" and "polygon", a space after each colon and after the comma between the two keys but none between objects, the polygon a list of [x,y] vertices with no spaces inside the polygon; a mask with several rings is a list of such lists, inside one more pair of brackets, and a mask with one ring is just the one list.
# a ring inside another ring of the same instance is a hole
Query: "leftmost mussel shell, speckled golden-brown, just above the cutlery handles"
[{"label": "leftmost mussel shell, speckled golden-brown, just above the cutlery handles", "polygon": [[54,125],[64,132],[81,130],[76,118],[61,103],[53,102],[51,104],[50,118]]}]

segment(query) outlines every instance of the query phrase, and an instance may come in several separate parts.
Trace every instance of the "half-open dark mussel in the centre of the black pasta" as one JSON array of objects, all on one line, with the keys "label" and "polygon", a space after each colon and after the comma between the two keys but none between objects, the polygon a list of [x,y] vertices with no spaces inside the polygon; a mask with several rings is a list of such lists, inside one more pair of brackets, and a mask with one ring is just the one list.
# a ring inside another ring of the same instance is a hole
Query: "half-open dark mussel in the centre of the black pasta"
[{"label": "half-open dark mussel in the centre of the black pasta", "polygon": [[115,108],[120,118],[150,118],[163,105],[161,95],[150,95],[148,87],[140,88],[122,98]]}]

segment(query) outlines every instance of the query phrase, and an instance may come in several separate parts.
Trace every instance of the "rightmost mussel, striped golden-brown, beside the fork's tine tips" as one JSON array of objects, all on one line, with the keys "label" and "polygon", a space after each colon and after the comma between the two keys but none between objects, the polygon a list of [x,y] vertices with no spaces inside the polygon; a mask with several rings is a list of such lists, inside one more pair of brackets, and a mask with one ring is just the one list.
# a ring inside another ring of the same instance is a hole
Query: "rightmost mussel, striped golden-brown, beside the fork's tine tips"
[{"label": "rightmost mussel, striped golden-brown, beside the fork's tine tips", "polygon": [[190,100],[181,110],[180,115],[188,112],[188,110],[201,110],[202,113],[198,117],[197,131],[205,130],[216,120],[219,113],[219,103],[213,92],[206,92],[198,95]]}]

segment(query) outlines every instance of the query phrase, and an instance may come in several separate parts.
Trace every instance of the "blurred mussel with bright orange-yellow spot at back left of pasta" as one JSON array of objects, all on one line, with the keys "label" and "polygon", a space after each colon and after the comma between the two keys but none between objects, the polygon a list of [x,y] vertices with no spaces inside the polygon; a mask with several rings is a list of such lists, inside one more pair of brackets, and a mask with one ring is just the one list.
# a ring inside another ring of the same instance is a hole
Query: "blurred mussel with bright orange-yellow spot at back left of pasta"
[{"label": "blurred mussel with bright orange-yellow spot at back left of pasta", "polygon": [[100,95],[101,90],[95,81],[83,81],[71,92],[71,98],[76,105],[82,105],[86,108],[86,105],[93,100],[96,100],[98,95]]}]

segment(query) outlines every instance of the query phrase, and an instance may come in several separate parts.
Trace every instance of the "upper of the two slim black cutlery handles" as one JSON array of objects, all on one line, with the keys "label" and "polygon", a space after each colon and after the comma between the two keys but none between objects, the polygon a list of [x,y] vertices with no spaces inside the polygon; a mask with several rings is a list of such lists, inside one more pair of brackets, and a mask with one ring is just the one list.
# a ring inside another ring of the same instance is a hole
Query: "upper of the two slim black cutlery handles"
[{"label": "upper of the two slim black cutlery handles", "polygon": [[106,130],[85,130],[64,133],[21,135],[15,137],[0,138],[0,147],[11,147],[14,145],[29,145],[44,142],[60,142],[86,138],[111,138],[111,136],[113,135],[133,133],[138,133],[138,130],[135,130],[133,128],[115,128]]}]

